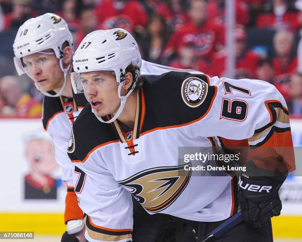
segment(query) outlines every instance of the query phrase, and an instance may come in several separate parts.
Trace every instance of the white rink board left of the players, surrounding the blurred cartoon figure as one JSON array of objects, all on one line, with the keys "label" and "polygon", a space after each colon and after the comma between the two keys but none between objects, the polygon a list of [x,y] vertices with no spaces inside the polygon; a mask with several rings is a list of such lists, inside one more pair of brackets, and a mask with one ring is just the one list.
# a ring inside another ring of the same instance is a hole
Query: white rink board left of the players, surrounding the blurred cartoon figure
[{"label": "white rink board left of the players, surrounding the blurred cartoon figure", "polygon": [[[0,212],[63,212],[66,187],[57,189],[55,200],[25,200],[24,176],[29,171],[25,158],[25,140],[32,133],[45,132],[40,119],[0,119],[0,154],[2,172],[0,175]],[[53,177],[61,178],[57,166]]]}]

